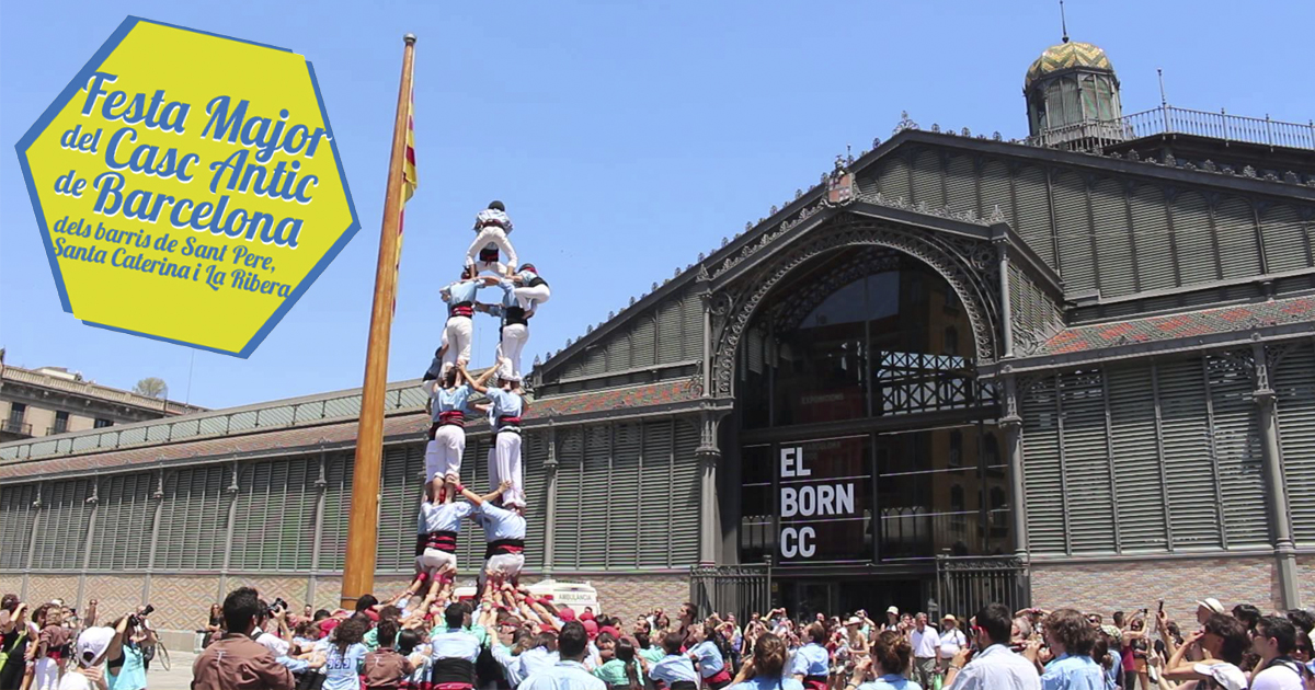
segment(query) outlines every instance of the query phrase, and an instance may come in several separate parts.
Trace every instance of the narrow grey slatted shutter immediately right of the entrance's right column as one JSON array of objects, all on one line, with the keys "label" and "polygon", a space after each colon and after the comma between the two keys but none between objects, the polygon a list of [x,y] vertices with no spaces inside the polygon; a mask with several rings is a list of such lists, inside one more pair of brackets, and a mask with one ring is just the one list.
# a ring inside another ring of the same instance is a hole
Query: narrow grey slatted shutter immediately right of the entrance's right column
[{"label": "narrow grey slatted shutter immediately right of the entrance's right column", "polygon": [[1020,392],[1027,539],[1032,553],[1068,551],[1056,390],[1056,379],[1045,376]]}]

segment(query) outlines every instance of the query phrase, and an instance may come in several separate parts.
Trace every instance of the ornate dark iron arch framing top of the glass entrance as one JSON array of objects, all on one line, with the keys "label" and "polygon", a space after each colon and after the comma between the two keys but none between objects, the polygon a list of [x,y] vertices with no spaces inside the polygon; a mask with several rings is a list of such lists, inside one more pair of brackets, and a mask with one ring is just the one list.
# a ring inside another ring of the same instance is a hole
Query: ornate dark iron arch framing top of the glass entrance
[{"label": "ornate dark iron arch framing top of the glass entrance", "polygon": [[[949,283],[963,302],[973,329],[977,363],[993,363],[997,356],[994,334],[999,313],[993,285],[998,285],[998,264],[986,262],[986,265],[981,265],[981,262],[973,260],[974,250],[982,244],[990,248],[988,241],[944,237],[871,219],[840,217],[828,231],[756,271],[755,275],[746,276],[736,287],[726,288],[723,290],[726,297],[721,301],[714,300],[714,305],[723,305],[725,313],[719,313],[714,306],[713,393],[732,394],[735,351],[750,321],[772,288],[800,265],[838,248],[888,247],[924,262]],[[736,263],[747,256],[739,258]]]}]

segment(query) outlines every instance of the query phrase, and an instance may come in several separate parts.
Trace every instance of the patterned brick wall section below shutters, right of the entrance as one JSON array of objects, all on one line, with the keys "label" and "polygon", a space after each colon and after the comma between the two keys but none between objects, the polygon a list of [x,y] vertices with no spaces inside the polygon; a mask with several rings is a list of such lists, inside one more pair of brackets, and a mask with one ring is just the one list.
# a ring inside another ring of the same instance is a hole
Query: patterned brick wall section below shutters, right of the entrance
[{"label": "patterned brick wall section below shutters, right of the entrance", "polygon": [[[1315,559],[1307,559],[1307,565],[1315,568]],[[1118,610],[1155,610],[1164,599],[1170,618],[1194,620],[1195,602],[1206,597],[1230,610],[1237,603],[1278,607],[1273,557],[1032,564],[1032,603],[1041,609],[1072,606],[1109,616]]]}]

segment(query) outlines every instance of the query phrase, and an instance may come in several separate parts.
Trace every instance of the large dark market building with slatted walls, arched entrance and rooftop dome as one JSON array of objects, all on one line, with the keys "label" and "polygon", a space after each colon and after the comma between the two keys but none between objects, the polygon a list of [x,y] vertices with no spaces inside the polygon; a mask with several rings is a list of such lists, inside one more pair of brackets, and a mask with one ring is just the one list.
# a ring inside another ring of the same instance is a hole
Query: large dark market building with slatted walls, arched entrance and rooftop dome
[{"label": "large dark market building with slatted walls, arched entrance and rooftop dome", "polygon": [[[625,615],[1315,603],[1315,126],[1124,116],[1066,39],[1024,96],[1019,141],[906,116],[537,363],[531,576]],[[410,568],[417,384],[389,393],[379,589]],[[0,446],[0,589],[178,630],[238,581],[337,602],[359,403]]]}]

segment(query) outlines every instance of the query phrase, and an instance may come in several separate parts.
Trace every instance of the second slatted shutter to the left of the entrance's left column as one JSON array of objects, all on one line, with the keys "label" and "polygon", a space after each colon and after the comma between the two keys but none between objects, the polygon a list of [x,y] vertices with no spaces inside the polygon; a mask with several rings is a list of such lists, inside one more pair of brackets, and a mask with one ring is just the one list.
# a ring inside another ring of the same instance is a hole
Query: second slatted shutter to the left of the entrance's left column
[{"label": "second slatted shutter to the left of the entrance's left column", "polygon": [[643,515],[639,565],[643,568],[665,568],[669,564],[672,526],[677,519],[689,519],[689,515],[676,514],[672,426],[671,419],[643,423],[643,457],[639,460],[639,506]]}]

